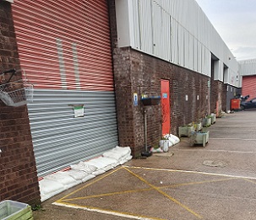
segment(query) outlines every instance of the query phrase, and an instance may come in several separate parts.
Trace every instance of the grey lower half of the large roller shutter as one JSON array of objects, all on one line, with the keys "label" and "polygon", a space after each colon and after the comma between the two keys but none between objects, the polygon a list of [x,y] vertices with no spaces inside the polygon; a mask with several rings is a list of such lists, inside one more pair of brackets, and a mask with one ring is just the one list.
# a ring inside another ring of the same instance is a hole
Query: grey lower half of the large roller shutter
[{"label": "grey lower half of the large roller shutter", "polygon": [[[74,117],[74,105],[84,105],[84,117]],[[114,92],[35,89],[28,110],[39,176],[118,144]]]}]

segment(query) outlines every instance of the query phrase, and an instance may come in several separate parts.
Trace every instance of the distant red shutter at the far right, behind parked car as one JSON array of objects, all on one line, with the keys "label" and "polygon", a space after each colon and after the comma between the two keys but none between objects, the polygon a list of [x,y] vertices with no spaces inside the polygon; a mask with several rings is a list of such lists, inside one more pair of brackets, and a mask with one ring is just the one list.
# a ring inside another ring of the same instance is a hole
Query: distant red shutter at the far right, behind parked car
[{"label": "distant red shutter at the far right, behind parked car", "polygon": [[256,97],[256,75],[242,77],[242,95],[250,95],[249,99]]}]

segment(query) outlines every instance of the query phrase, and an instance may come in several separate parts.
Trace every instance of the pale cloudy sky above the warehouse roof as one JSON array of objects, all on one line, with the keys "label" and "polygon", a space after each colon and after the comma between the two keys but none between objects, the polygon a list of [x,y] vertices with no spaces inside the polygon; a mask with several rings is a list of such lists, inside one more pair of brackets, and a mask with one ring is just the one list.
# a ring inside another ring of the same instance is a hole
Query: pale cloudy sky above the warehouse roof
[{"label": "pale cloudy sky above the warehouse roof", "polygon": [[256,58],[256,0],[196,0],[237,61]]}]

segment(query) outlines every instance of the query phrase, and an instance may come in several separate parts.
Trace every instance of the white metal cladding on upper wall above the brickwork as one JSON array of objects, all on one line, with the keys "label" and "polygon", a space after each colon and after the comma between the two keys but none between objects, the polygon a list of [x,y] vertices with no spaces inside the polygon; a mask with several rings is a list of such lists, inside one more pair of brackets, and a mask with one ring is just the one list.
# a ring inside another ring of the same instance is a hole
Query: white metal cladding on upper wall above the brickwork
[{"label": "white metal cladding on upper wall above the brickwork", "polygon": [[[123,1],[130,0],[116,0],[116,4]],[[210,76],[212,53],[225,63],[234,75],[237,75],[237,61],[194,0],[132,0],[132,2],[133,4],[128,8],[129,16],[139,12],[139,17],[142,19],[136,20],[139,24],[129,24],[129,32],[137,33],[136,25],[139,25],[140,30],[147,33],[147,36],[140,35],[140,44],[143,47],[139,50],[207,76]],[[118,9],[122,10],[122,8]],[[117,24],[119,19],[122,18],[117,17]],[[118,38],[122,39],[126,34],[125,31],[119,32]],[[138,45],[136,40],[131,40],[130,46],[134,49],[138,49]],[[221,74],[218,79],[223,80]],[[231,78],[229,83],[237,85],[237,82],[231,81]]]}]

